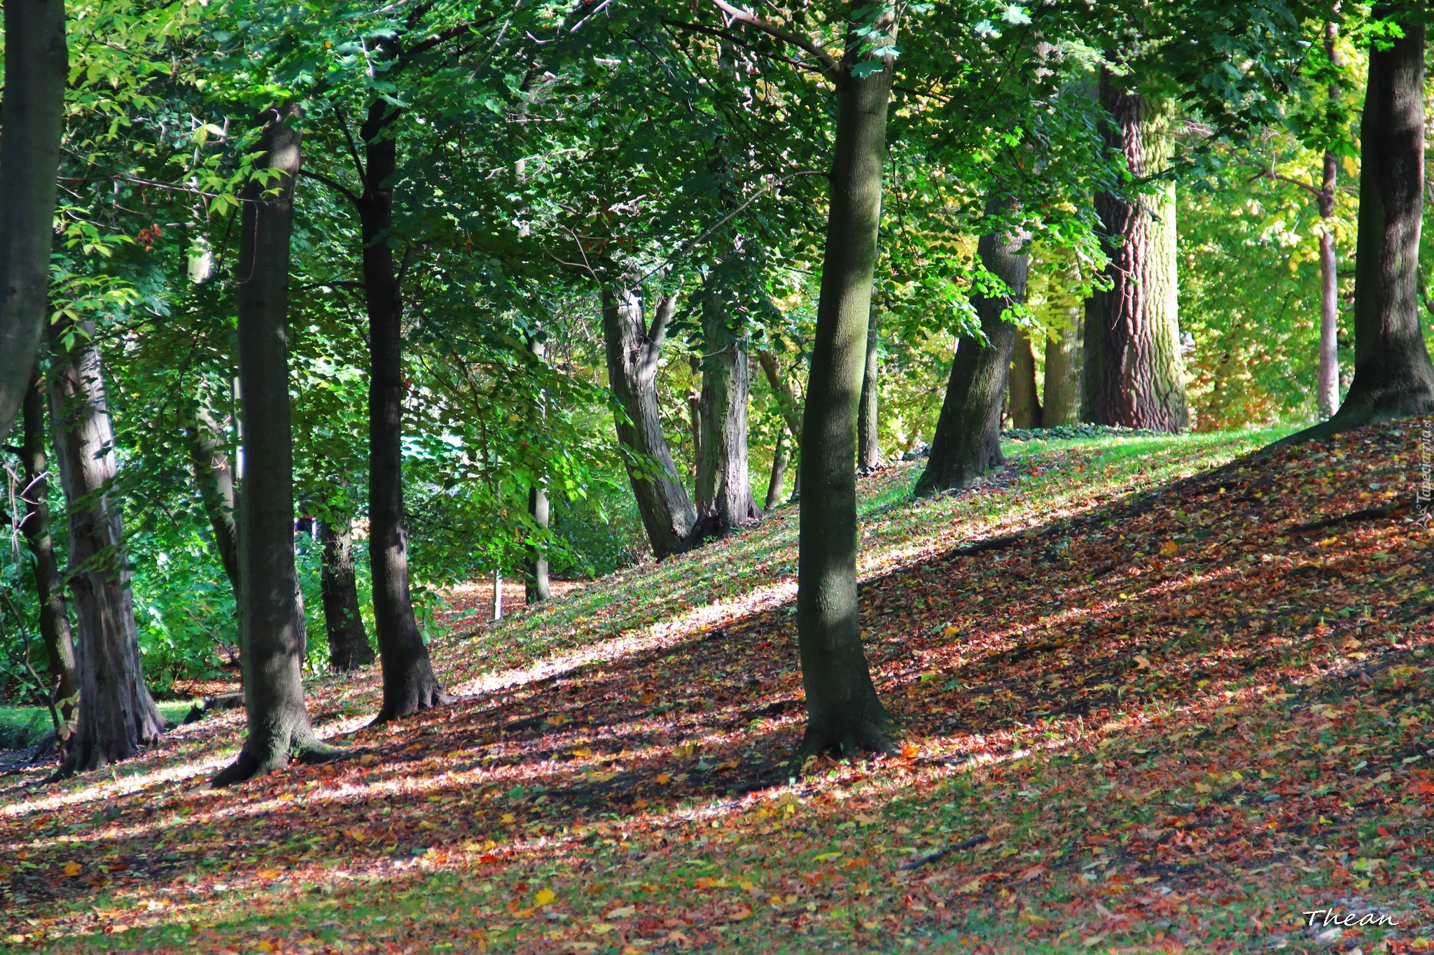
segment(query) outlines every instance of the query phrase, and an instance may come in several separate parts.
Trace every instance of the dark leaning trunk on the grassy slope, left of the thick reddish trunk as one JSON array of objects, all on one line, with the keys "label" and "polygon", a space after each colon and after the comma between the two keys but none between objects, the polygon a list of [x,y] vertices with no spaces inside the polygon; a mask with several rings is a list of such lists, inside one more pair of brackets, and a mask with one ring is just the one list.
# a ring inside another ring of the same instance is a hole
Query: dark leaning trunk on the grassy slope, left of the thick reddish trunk
[{"label": "dark leaning trunk on the grassy slope, left of the thick reddish trunk", "polygon": [[974,302],[987,341],[962,335],[956,342],[946,398],[931,440],[931,457],[916,481],[919,497],[965,487],[992,467],[1005,464],[1001,457],[1001,399],[1011,371],[1015,325],[1002,315],[1025,298],[1025,236],[1002,241],[984,235],[977,248],[981,263],[1007,283],[1011,298],[978,298]]}]

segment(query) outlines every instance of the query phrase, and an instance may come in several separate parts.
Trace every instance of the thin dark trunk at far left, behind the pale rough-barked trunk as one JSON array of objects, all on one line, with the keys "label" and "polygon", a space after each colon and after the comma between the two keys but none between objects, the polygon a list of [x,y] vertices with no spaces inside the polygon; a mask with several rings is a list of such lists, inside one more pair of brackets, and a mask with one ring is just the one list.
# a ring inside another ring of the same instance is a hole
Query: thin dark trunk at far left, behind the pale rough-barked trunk
[{"label": "thin dark trunk at far left, behind the pale rough-barked trunk", "polygon": [[34,558],[34,596],[40,603],[40,639],[49,661],[50,699],[66,724],[75,714],[77,684],[75,682],[75,643],[70,619],[65,607],[60,571],[54,563],[54,540],[50,537],[50,481],[44,455],[44,385],[39,377],[30,378],[24,392],[22,415],[24,444],[20,457],[24,464],[24,540]]}]

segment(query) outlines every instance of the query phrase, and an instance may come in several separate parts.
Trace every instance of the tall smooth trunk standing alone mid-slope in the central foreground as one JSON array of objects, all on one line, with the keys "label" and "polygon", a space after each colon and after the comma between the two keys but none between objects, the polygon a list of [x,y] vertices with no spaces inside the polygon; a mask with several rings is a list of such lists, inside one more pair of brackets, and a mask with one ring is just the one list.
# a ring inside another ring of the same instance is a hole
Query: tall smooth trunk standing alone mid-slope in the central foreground
[{"label": "tall smooth trunk standing alone mid-slope in the central foreground", "polygon": [[837,76],[822,291],[802,421],[797,641],[804,755],[892,747],[891,714],[872,684],[856,600],[856,405],[866,369],[893,67],[886,62],[858,77],[855,57],[853,44]]}]

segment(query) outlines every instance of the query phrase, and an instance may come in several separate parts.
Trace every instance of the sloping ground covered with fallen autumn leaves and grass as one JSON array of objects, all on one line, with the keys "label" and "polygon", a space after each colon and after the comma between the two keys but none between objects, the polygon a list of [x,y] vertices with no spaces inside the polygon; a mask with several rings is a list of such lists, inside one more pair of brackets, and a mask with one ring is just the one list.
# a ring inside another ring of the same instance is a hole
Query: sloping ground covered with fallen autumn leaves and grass
[{"label": "sloping ground covered with fallen autumn leaves and grass", "polygon": [[241,740],[225,713],[115,770],[9,772],[0,944],[1434,948],[1431,430],[1248,457],[1278,435],[1011,444],[923,503],[919,461],[865,480],[863,626],[901,755],[784,763],[784,508],[436,640],[453,706],[364,729],[376,672],[313,680],[338,763],[206,789]]}]

